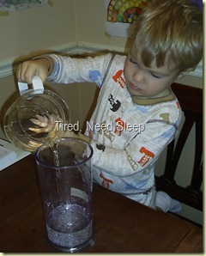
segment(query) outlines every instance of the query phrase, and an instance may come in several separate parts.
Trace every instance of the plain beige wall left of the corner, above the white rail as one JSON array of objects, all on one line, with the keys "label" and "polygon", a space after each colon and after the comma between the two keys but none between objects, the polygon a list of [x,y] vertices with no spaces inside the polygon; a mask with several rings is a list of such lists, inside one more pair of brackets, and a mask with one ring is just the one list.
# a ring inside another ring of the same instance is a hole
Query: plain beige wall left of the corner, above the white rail
[{"label": "plain beige wall left of the corner, above the white rail", "polygon": [[75,0],[0,15],[1,61],[76,40]]}]

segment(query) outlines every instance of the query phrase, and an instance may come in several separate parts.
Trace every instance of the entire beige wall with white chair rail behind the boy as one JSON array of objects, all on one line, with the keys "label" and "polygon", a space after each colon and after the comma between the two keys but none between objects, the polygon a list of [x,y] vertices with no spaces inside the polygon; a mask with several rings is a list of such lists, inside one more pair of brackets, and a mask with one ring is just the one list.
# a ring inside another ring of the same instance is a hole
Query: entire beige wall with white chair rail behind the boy
[{"label": "entire beige wall with white chair rail behind the boy", "polygon": [[[46,51],[58,51],[75,54],[77,52],[101,52],[112,50],[125,52],[130,46],[130,40],[111,37],[105,34],[106,10],[104,0],[51,0],[51,5],[44,5],[33,9],[10,12],[9,15],[0,14],[0,113],[1,126],[3,115],[10,104],[19,96],[16,89],[13,66],[24,58]],[[179,80],[198,88],[203,88],[203,77],[186,76]],[[72,121],[81,123],[87,118],[88,111],[93,106],[97,94],[96,88],[88,84],[51,85],[68,103]],[[0,137],[4,137],[3,128]],[[194,134],[191,143],[193,148]],[[4,137],[5,138],[5,137]],[[157,172],[162,172],[164,157],[158,163]],[[179,180],[185,180],[183,174]],[[193,210],[191,218],[202,222],[203,214]],[[183,213],[185,214],[185,213]]]}]

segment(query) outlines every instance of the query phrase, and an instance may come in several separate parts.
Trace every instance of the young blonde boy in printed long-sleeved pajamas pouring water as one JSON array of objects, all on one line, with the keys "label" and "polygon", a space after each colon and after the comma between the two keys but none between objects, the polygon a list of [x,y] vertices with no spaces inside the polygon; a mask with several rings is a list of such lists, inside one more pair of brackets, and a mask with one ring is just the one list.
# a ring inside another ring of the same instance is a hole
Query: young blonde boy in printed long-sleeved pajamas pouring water
[{"label": "young blonde boy in printed long-sleeved pajamas pouring water", "polygon": [[17,78],[95,82],[97,106],[85,135],[78,135],[94,149],[94,181],[154,209],[178,211],[179,202],[156,193],[154,165],[176,136],[182,116],[170,86],[195,70],[202,54],[202,10],[190,0],[158,0],[139,15],[127,58],[45,55],[20,64]]}]

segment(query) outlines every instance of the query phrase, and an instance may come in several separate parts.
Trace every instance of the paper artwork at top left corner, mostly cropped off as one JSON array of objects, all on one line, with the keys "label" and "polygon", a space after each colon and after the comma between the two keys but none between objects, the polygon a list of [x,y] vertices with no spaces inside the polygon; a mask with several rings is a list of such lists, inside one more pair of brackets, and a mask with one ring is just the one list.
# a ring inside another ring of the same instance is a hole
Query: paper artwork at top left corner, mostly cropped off
[{"label": "paper artwork at top left corner, mostly cropped off", "polygon": [[0,0],[0,11],[15,11],[43,5],[48,0]]}]

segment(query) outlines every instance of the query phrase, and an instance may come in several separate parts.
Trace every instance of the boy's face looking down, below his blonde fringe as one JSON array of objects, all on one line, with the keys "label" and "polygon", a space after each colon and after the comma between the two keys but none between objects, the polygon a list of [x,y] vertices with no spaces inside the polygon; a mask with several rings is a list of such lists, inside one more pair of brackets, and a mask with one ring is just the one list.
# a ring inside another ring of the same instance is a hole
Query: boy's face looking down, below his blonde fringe
[{"label": "boy's face looking down, below his blonde fringe", "polygon": [[178,78],[180,70],[175,65],[157,68],[155,62],[151,67],[145,67],[140,54],[136,58],[132,52],[124,64],[124,77],[130,94],[145,99],[169,94],[169,87]]}]

